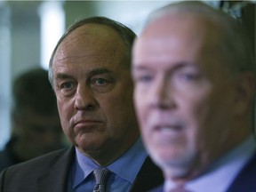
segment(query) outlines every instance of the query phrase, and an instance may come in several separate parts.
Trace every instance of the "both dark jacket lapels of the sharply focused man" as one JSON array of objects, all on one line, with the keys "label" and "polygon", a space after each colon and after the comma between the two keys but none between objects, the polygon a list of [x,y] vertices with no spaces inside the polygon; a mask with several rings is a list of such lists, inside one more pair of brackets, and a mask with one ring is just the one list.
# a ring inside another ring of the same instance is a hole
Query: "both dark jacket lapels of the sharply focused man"
[{"label": "both dark jacket lapels of the sharply focused man", "polygon": [[[54,191],[63,192],[68,188],[68,175],[75,158],[75,148],[71,147],[64,155],[57,156],[52,164],[37,179],[38,192]],[[162,171],[146,158],[138,173],[131,192],[148,191],[163,184],[164,178]]]}]

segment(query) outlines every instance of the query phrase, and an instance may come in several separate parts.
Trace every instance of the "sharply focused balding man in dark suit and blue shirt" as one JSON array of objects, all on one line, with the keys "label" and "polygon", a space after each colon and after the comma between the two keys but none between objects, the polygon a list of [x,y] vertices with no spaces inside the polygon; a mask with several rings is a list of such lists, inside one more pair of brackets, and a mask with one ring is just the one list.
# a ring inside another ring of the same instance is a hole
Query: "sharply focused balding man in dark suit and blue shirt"
[{"label": "sharply focused balding man in dark suit and blue shirt", "polygon": [[130,28],[102,17],[68,28],[52,53],[49,77],[73,147],[5,170],[1,192],[92,191],[93,172],[101,168],[110,172],[104,173],[106,191],[147,191],[161,183],[132,104],[134,37]]}]

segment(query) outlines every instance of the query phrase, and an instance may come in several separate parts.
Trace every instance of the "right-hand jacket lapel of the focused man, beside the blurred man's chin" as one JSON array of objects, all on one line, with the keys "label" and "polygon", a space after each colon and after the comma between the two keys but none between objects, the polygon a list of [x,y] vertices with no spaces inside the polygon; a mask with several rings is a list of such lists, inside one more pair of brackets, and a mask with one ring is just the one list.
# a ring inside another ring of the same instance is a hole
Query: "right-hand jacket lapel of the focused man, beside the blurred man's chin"
[{"label": "right-hand jacket lapel of the focused man, beside the blurred man's chin", "polygon": [[138,173],[131,192],[148,191],[164,183],[162,171],[147,157]]}]

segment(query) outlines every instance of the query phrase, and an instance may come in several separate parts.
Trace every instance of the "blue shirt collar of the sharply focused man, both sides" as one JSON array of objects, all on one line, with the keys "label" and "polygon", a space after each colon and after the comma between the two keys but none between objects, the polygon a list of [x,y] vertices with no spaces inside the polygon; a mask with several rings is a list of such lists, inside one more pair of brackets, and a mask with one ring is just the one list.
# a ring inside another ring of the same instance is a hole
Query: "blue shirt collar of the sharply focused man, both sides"
[{"label": "blue shirt collar of the sharply focused man, both sides", "polygon": [[[107,167],[111,172],[116,173],[116,175],[124,180],[128,180],[132,184],[146,157],[147,153],[139,138],[123,156],[120,156],[115,162],[109,164]],[[84,154],[76,148],[76,161],[72,170],[74,177],[73,188],[76,188],[77,185],[98,167],[98,164],[95,164],[91,158],[84,156]]]}]

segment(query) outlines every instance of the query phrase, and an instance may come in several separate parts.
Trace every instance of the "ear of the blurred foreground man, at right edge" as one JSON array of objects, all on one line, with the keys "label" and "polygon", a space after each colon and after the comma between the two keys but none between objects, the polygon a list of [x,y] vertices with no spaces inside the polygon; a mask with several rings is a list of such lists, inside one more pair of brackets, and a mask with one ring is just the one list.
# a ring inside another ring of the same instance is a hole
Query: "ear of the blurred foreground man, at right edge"
[{"label": "ear of the blurred foreground man, at right edge", "polygon": [[242,72],[236,79],[236,116],[248,116],[252,106],[256,89],[255,76],[251,72]]}]

